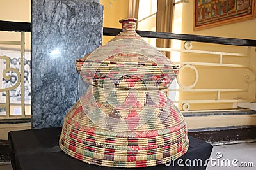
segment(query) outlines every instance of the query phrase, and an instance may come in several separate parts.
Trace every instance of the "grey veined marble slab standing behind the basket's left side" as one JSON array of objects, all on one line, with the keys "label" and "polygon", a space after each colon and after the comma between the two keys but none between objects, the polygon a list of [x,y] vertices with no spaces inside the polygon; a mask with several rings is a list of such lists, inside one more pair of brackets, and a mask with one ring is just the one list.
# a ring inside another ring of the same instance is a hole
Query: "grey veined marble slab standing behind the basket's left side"
[{"label": "grey veined marble slab standing behind the basket's left side", "polygon": [[74,63],[102,44],[99,0],[32,1],[32,128],[60,127],[78,99]]}]

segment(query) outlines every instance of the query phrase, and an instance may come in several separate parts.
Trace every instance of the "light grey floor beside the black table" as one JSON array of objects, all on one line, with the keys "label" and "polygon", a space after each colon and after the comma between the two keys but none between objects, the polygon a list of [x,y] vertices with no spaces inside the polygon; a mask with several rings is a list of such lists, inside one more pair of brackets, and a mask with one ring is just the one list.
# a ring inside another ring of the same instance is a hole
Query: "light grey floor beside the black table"
[{"label": "light grey floor beside the black table", "polygon": [[[214,146],[211,159],[208,162],[207,170],[253,170],[256,167],[256,143]],[[228,162],[230,162],[230,166],[228,166]],[[253,167],[239,167],[241,163],[248,164],[249,162],[253,164]],[[12,170],[12,166],[0,164],[0,170]]]}]

